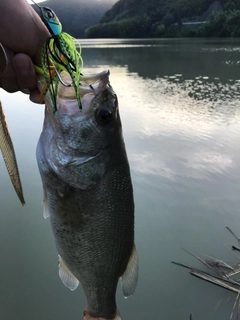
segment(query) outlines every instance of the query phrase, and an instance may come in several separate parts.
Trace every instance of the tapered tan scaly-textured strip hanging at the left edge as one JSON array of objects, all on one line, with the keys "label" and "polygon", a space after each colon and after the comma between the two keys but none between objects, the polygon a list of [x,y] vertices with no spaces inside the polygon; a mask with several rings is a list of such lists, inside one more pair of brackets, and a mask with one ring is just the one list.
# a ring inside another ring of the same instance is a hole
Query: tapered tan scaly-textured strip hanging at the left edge
[{"label": "tapered tan scaly-textured strip hanging at the left edge", "polygon": [[13,142],[11,139],[8,125],[6,122],[4,110],[0,101],[0,149],[2,156],[11,179],[15,192],[21,201],[22,205],[25,204],[21,179],[18,170],[17,159],[14,151]]}]

